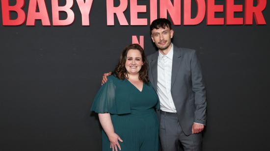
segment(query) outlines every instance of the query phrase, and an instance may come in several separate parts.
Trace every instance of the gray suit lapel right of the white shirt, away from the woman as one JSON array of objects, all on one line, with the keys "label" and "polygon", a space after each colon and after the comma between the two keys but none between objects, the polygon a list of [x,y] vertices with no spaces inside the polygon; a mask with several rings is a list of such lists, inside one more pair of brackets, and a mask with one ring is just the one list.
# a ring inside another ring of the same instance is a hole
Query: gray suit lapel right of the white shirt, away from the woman
[{"label": "gray suit lapel right of the white shirt, away from the woman", "polygon": [[172,57],[172,73],[171,73],[171,89],[175,82],[179,66],[181,63],[180,49],[173,45],[173,57]]}]

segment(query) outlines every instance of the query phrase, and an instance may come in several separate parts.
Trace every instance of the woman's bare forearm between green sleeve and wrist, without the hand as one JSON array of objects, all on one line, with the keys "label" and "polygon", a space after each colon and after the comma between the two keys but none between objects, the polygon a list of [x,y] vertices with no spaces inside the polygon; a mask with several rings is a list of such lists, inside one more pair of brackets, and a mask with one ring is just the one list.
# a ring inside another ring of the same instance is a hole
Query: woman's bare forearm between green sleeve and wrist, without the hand
[{"label": "woman's bare forearm between green sleeve and wrist, without the hand", "polygon": [[106,132],[107,136],[111,135],[114,133],[113,125],[110,119],[110,114],[109,113],[99,113],[99,121]]}]

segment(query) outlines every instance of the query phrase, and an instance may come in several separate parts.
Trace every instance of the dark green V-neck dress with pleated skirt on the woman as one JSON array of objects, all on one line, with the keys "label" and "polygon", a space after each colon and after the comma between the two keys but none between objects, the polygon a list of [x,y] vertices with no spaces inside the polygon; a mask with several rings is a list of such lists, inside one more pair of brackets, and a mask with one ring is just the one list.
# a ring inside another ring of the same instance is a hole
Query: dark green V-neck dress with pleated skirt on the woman
[{"label": "dark green V-neck dress with pleated skirt on the woman", "polygon": [[[143,83],[140,92],[129,80],[108,76],[100,88],[91,110],[110,113],[113,128],[123,142],[121,151],[158,151],[159,124],[155,109],[159,109],[158,96],[152,85]],[[102,151],[112,151],[102,129]]]}]

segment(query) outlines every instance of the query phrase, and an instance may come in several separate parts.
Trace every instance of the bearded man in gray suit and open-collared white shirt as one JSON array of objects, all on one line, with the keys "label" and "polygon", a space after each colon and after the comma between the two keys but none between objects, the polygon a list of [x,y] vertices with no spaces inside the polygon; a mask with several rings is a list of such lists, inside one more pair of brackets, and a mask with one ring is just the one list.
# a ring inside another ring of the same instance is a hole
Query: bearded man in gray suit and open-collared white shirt
[{"label": "bearded man in gray suit and open-collared white shirt", "polygon": [[147,61],[149,79],[160,99],[162,151],[178,151],[180,143],[184,151],[201,151],[206,92],[196,51],[171,43],[174,31],[167,19],[153,21],[150,30],[159,49]]}]

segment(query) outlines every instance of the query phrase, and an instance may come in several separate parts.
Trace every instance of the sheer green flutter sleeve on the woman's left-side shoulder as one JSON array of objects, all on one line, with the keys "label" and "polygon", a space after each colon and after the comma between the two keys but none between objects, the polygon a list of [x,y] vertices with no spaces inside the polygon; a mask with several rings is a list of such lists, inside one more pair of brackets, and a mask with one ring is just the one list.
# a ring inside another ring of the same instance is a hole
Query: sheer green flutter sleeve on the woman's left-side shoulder
[{"label": "sheer green flutter sleeve on the woman's left-side shoulder", "polygon": [[110,76],[108,76],[108,81],[99,89],[90,110],[96,113],[117,114],[115,85]]}]

